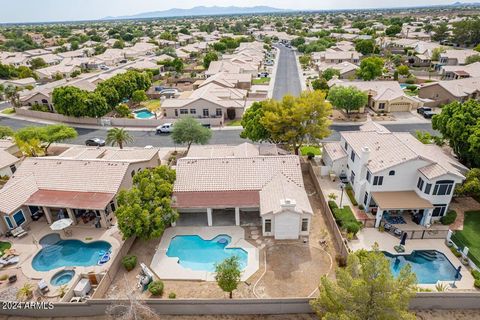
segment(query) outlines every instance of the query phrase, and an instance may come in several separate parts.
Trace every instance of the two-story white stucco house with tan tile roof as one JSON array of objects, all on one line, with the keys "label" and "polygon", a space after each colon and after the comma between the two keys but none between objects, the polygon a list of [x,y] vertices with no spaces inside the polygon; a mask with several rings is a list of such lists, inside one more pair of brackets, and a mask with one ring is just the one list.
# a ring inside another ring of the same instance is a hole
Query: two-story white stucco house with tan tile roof
[{"label": "two-story white stucco house with tan tile roof", "polygon": [[446,214],[455,186],[465,179],[466,167],[410,133],[368,122],[340,136],[325,144],[323,161],[337,175],[347,175],[355,200],[376,214],[376,227],[385,214],[429,226]]}]

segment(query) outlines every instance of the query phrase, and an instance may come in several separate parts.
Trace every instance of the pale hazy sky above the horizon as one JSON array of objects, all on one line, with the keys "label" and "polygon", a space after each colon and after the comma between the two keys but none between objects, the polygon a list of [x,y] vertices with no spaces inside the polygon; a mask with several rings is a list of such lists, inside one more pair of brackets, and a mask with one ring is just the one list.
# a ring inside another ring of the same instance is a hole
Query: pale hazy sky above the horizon
[{"label": "pale hazy sky above the horizon", "polygon": [[195,6],[328,10],[450,4],[456,0],[0,0],[0,23],[94,20]]}]

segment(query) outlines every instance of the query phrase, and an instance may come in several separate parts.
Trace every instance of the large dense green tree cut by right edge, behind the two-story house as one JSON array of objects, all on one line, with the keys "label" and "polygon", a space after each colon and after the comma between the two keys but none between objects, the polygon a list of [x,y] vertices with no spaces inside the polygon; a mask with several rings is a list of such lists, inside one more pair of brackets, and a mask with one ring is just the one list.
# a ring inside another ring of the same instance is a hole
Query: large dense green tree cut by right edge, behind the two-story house
[{"label": "large dense green tree cut by right edge, behind the two-story house", "polygon": [[433,116],[432,127],[440,131],[460,161],[468,167],[480,167],[480,102],[455,101],[444,105]]}]

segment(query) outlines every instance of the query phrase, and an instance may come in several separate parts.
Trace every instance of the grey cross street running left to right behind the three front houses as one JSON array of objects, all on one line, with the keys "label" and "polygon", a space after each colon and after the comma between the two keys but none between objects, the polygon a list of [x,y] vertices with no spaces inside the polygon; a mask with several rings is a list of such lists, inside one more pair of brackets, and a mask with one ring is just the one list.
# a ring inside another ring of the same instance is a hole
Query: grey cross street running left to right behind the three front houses
[{"label": "grey cross street running left to right behind the three front houses", "polygon": [[[1,118],[0,117],[0,126],[9,126],[14,130],[23,128],[26,126],[39,126],[41,124],[33,123],[24,120],[10,119],[10,118]],[[331,126],[332,134],[325,139],[325,141],[335,141],[340,139],[340,131],[355,131],[358,130],[360,125],[333,125]],[[425,130],[430,133],[436,133],[430,126],[430,124],[388,124],[385,125],[387,129],[392,132],[411,132],[415,133],[416,130]],[[85,128],[76,128],[78,132],[78,137],[69,143],[74,144],[84,144],[85,140],[89,138],[105,138],[106,130],[104,129],[85,129]],[[230,129],[217,129],[212,130],[212,139],[210,144],[240,144],[242,142],[248,141],[240,138],[240,129],[230,130]],[[152,129],[150,131],[130,131],[130,134],[134,138],[134,142],[130,146],[136,147],[145,147],[147,145],[152,145],[155,147],[175,147],[172,139],[168,134],[165,135],[156,135],[155,131]]]}]

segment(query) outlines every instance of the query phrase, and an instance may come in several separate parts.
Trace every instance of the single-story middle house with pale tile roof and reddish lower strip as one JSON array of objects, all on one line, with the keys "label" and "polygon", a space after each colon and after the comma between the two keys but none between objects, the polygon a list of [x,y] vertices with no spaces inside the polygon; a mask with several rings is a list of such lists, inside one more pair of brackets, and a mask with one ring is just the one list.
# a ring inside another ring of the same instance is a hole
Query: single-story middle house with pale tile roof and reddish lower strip
[{"label": "single-story middle house with pale tile roof and reddish lower strip", "polygon": [[180,220],[203,216],[205,226],[259,221],[263,236],[308,236],[313,210],[298,156],[265,156],[250,144],[215,148],[212,156],[206,148],[177,162],[172,203]]}]

